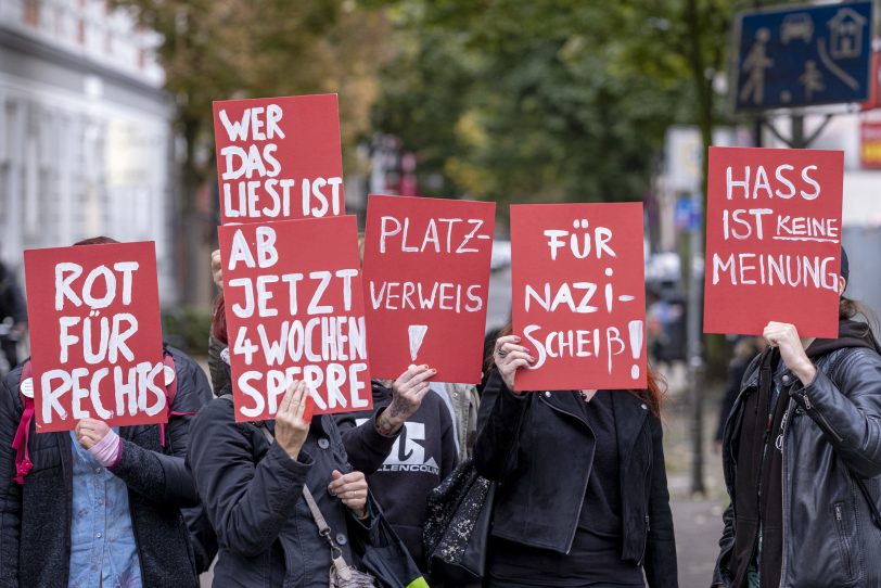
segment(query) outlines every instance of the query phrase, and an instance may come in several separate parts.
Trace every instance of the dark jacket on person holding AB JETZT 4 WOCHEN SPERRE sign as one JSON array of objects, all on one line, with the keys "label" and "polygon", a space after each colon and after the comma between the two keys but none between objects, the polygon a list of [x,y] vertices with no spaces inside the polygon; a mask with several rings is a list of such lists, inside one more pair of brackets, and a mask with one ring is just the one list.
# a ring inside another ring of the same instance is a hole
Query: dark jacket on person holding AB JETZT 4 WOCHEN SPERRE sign
[{"label": "dark jacket on person holding AB JETZT 4 WOCHEN SPERRE sign", "polygon": [[[331,472],[369,474],[397,437],[381,435],[372,420],[341,435],[335,418],[316,417],[299,458],[293,460],[257,426],[234,418],[227,398],[208,404],[193,421],[187,457],[217,533],[214,586],[327,587],[330,548],[318,535],[303,486],[315,496],[346,561],[354,563],[349,534],[360,533],[367,541],[371,529],[330,496]],[[274,432],[274,421],[266,425]]]}]

